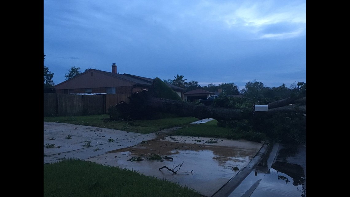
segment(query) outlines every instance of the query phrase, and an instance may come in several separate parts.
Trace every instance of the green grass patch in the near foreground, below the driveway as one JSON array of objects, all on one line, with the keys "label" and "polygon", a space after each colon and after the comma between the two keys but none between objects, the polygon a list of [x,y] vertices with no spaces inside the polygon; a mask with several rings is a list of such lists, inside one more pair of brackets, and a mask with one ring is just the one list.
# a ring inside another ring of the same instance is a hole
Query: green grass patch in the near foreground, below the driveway
[{"label": "green grass patch in the near foreground, below the driveway", "polygon": [[44,164],[44,197],[201,197],[193,189],[138,172],[76,159]]}]

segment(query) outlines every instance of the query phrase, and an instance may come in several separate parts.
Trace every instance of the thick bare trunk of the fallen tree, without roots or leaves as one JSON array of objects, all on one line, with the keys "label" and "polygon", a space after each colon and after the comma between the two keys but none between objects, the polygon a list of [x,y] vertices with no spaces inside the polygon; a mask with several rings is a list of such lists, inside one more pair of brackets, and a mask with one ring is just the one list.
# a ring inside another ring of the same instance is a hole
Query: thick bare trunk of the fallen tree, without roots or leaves
[{"label": "thick bare trunk of the fallen tree, without roots or leaves", "polygon": [[[299,98],[296,98],[299,99]],[[302,112],[306,113],[306,106],[290,105],[290,103],[295,103],[296,99],[283,99],[281,101],[276,101],[270,103],[273,109],[270,109],[270,104],[268,104],[269,109],[266,115],[274,115],[277,112]],[[305,97],[306,99],[306,97]],[[212,106],[195,105],[193,103],[186,103],[181,101],[174,101],[168,99],[158,99],[150,97],[144,101],[146,106],[151,106],[154,110],[172,113],[181,116],[193,116],[199,119],[204,118],[214,118],[216,120],[242,120],[252,117],[252,110],[240,110],[231,108],[217,108]],[[278,106],[278,107],[277,107]],[[281,107],[283,106],[283,107]],[[264,112],[262,112],[264,113]]]}]

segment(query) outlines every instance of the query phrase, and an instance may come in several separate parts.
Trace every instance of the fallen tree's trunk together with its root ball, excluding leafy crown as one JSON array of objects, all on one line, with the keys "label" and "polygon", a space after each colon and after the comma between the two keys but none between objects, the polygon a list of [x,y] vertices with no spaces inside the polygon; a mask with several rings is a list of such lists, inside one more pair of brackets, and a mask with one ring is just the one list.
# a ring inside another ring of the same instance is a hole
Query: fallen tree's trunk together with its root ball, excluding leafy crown
[{"label": "fallen tree's trunk together with its root ball, excluding leafy crown", "polygon": [[[215,107],[215,105],[204,106],[202,104],[194,104],[179,100],[161,99],[152,97],[148,91],[132,94],[130,104],[119,103],[116,108],[122,110],[118,118],[129,120],[139,119],[138,117],[149,117],[150,113],[170,113],[179,116],[193,116],[199,119],[214,118],[216,120],[243,120],[252,118],[252,107],[234,109]],[[306,97],[288,98],[280,101],[275,101],[268,104],[268,111],[264,114],[271,116],[276,113],[306,113],[306,105],[300,105],[306,100]],[[142,116],[142,113],[146,113]],[[258,113],[257,113],[258,114]]]}]

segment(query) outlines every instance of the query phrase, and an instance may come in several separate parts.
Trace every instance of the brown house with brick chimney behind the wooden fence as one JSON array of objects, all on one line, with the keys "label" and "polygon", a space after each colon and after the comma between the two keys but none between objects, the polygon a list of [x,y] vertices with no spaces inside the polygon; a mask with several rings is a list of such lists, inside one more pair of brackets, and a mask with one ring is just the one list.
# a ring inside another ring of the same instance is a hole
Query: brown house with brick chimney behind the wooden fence
[{"label": "brown house with brick chimney behind the wooden fence", "polygon": [[[63,94],[132,94],[148,90],[154,79],[131,74],[118,74],[117,65],[112,64],[112,72],[89,69],[71,79],[54,86],[56,93]],[[168,84],[183,99],[184,88]]]}]

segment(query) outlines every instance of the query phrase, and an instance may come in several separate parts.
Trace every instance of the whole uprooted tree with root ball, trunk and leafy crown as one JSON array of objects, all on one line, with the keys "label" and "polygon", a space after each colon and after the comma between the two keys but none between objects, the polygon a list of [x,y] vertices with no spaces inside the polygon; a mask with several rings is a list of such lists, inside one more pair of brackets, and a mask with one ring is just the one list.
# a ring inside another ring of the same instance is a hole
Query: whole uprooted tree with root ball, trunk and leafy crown
[{"label": "whole uprooted tree with root ball, trunk and leafy crown", "polygon": [[220,127],[257,136],[264,133],[282,141],[290,139],[304,142],[306,136],[306,87],[300,94],[268,103],[267,111],[255,111],[255,103],[245,98],[219,97],[212,105],[204,106],[169,97],[159,97],[160,89],[133,93],[130,103],[121,102],[109,108],[111,120],[152,120],[162,118],[161,113],[176,114],[198,119],[214,118]]}]

